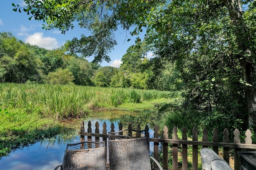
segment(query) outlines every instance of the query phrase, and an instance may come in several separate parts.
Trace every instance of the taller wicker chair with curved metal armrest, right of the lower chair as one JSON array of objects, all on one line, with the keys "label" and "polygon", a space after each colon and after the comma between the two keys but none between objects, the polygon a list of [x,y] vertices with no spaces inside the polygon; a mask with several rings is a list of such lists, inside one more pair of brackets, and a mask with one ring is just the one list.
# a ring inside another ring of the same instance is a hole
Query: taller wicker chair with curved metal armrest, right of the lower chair
[{"label": "taller wicker chair with curved metal armrest, right of the lower chair", "polygon": [[149,154],[145,130],[108,132],[108,149],[110,170],[151,170],[150,158],[162,170],[157,160]]}]

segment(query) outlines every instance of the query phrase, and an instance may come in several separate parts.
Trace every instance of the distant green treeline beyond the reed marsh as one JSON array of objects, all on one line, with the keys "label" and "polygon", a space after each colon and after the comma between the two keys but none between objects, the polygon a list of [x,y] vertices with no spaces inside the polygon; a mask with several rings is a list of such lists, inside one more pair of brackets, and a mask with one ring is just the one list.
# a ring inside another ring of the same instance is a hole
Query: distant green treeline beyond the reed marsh
[{"label": "distant green treeline beyond the reed marsh", "polygon": [[169,76],[162,77],[157,85],[152,83],[151,68],[143,68],[147,62],[145,49],[146,44],[144,48],[130,47],[122,58],[120,68],[102,67],[70,54],[64,48],[46,50],[26,44],[10,32],[2,32],[0,82],[172,90],[168,85]]}]

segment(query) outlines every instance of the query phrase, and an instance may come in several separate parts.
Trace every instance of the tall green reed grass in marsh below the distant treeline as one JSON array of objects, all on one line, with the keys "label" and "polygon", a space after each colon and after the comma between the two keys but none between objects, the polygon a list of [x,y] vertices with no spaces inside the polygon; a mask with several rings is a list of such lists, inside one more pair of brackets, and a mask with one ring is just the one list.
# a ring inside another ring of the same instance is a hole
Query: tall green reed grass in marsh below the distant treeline
[{"label": "tall green reed grass in marsh below the distant treeline", "polygon": [[170,92],[130,88],[100,88],[50,84],[0,84],[0,106],[38,112],[56,119],[81,117],[92,108],[117,107],[125,102],[168,98]]}]

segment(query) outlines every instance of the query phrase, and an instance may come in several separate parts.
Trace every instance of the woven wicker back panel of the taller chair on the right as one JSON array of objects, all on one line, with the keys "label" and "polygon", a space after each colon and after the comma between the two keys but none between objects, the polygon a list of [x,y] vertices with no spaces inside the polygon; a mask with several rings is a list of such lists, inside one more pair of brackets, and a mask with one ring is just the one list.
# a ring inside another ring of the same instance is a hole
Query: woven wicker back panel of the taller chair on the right
[{"label": "woven wicker back panel of the taller chair on the right", "polygon": [[109,140],[110,170],[151,170],[147,138]]}]

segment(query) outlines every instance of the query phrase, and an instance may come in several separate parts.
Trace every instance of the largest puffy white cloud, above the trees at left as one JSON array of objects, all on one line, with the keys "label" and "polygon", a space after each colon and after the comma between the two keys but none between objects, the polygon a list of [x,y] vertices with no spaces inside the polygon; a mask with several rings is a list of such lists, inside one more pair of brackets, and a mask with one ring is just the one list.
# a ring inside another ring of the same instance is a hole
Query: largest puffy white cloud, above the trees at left
[{"label": "largest puffy white cloud, above the trees at left", "polygon": [[25,39],[25,42],[32,45],[37,45],[47,50],[52,50],[59,47],[56,38],[44,37],[42,32],[36,32],[33,35],[28,36]]}]

